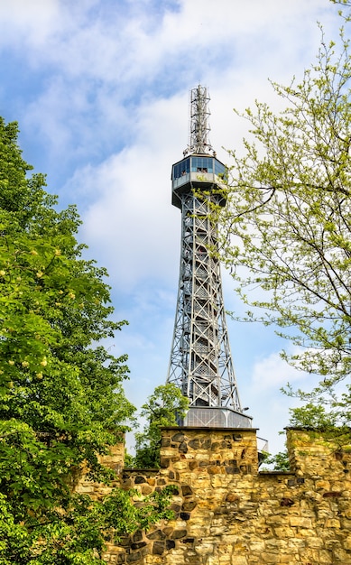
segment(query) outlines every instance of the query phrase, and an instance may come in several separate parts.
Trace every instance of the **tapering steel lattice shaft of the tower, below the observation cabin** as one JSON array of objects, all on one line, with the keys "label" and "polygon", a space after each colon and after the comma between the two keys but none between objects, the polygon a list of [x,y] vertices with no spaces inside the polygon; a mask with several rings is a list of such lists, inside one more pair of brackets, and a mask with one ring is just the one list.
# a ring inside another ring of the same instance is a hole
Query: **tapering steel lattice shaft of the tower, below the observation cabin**
[{"label": "tapering steel lattice shaft of the tower, below the observation cabin", "polygon": [[229,406],[241,412],[230,354],[220,265],[208,249],[217,228],[208,199],[182,198],[180,284],[168,380],[194,406]]}]

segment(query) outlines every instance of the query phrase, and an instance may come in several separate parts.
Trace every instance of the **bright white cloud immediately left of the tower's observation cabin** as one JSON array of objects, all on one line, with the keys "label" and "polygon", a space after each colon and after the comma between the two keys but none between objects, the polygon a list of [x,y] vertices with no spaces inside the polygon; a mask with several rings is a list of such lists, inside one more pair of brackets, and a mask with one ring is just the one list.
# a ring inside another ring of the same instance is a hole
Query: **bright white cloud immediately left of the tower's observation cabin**
[{"label": "bright white cloud immediately left of the tower's observation cabin", "polygon": [[96,168],[78,171],[70,185],[72,192],[80,186],[92,195],[83,238],[100,250],[114,283],[124,288],[177,276],[180,212],[171,207],[170,154],[174,150],[174,161],[182,156],[182,105],[176,97],[143,108],[134,144]]}]

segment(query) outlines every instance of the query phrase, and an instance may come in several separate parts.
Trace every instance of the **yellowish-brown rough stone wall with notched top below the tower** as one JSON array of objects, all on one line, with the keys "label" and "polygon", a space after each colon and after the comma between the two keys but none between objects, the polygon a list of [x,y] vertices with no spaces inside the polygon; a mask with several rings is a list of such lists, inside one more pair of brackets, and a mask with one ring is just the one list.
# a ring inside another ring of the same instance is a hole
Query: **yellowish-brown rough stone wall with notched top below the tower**
[{"label": "yellowish-brown rough stone wall with notched top below the tower", "polygon": [[287,445],[291,472],[259,472],[255,430],[164,429],[161,469],[124,469],[121,483],[144,495],[177,486],[174,519],[109,546],[104,559],[351,565],[350,454],[307,431],[287,431]]}]

